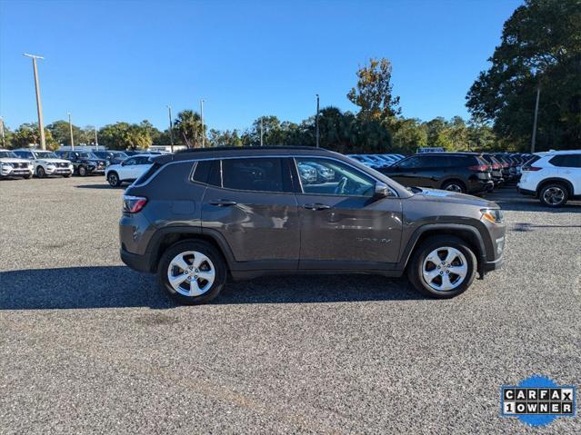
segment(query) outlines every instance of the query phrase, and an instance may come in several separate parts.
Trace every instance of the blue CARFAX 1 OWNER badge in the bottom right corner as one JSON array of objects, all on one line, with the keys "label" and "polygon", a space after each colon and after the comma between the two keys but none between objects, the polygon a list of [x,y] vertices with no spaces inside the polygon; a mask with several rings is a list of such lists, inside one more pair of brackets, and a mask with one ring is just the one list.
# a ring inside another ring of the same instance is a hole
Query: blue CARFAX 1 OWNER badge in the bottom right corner
[{"label": "blue CARFAX 1 OWNER badge in the bottom right corner", "polygon": [[544,426],[557,417],[576,416],[576,387],[557,385],[544,376],[532,376],[500,391],[500,411],[532,426]]}]

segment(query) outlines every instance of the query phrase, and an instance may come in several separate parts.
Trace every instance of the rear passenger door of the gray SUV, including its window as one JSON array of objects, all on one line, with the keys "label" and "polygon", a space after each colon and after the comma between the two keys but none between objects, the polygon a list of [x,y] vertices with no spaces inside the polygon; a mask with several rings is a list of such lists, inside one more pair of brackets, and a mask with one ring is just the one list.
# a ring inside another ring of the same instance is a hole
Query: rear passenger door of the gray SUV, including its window
[{"label": "rear passenger door of the gray SUV, including its window", "polygon": [[248,270],[296,270],[300,232],[289,159],[216,160],[209,176],[204,231],[217,232]]}]

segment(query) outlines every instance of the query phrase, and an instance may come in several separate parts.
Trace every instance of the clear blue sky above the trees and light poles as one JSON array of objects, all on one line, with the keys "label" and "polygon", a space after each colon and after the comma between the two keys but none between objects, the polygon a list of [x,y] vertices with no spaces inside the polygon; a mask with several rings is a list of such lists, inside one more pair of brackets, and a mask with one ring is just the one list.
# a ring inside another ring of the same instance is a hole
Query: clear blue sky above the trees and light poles
[{"label": "clear blue sky above the trees and light poles", "polygon": [[199,110],[220,130],[262,115],[300,122],[346,94],[370,57],[393,64],[406,117],[468,117],[466,92],[522,1],[0,0],[0,116],[45,124],[138,123],[160,129]]}]

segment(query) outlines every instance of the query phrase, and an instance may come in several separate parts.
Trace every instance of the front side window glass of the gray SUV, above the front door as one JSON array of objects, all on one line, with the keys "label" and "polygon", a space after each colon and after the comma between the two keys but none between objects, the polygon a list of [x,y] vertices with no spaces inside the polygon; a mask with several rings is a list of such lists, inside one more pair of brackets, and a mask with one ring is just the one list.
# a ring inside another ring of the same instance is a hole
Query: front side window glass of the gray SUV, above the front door
[{"label": "front side window glass of the gray SUV, above the front door", "polygon": [[376,181],[345,163],[308,157],[297,157],[295,160],[304,193],[368,197],[374,195]]}]

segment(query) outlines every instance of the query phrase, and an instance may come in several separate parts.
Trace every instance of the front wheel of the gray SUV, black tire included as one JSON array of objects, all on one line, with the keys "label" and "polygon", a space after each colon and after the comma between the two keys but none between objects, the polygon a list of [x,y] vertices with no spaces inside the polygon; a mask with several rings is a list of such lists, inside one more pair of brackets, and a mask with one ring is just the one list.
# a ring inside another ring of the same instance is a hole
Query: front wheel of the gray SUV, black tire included
[{"label": "front wheel of the gray SUV, black tire included", "polygon": [[[446,254],[450,253],[454,258],[451,262],[446,262]],[[475,253],[462,239],[451,235],[435,236],[416,248],[407,267],[407,276],[422,294],[435,299],[450,299],[466,292],[472,285],[476,277],[476,266]]]}]

